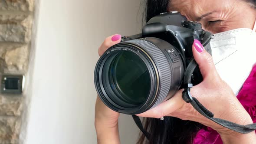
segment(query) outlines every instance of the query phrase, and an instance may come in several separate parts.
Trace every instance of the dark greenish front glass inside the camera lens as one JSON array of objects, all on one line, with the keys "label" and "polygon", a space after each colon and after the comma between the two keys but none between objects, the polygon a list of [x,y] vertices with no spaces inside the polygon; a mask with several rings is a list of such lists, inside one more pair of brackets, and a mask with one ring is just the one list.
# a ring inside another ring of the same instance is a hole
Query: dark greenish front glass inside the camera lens
[{"label": "dark greenish front glass inside the camera lens", "polygon": [[150,75],[143,60],[134,52],[120,52],[112,61],[110,79],[121,98],[133,105],[142,104],[150,92]]}]

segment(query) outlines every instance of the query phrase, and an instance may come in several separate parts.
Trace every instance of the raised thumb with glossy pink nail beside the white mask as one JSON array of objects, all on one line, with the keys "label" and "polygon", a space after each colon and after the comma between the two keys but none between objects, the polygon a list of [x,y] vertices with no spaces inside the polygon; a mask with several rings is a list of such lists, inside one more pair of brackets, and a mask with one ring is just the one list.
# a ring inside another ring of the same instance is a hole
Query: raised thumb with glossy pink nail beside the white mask
[{"label": "raised thumb with glossy pink nail beside the white mask", "polygon": [[212,56],[203,48],[197,39],[194,40],[192,51],[203,78],[216,75],[217,72]]}]

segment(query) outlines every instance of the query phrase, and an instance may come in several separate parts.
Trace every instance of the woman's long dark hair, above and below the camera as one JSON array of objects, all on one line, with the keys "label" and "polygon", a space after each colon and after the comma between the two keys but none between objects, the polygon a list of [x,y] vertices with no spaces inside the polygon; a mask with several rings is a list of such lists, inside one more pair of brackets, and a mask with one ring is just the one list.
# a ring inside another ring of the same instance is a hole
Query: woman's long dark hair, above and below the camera
[{"label": "woman's long dark hair, above and below the camera", "polygon": [[[171,0],[145,0],[144,17],[146,21],[167,11]],[[251,7],[256,8],[256,0],[246,0]],[[144,118],[144,129],[152,137],[146,139],[144,134],[137,144],[192,144],[197,132],[204,128],[203,124],[194,121],[184,121],[174,117]]]}]

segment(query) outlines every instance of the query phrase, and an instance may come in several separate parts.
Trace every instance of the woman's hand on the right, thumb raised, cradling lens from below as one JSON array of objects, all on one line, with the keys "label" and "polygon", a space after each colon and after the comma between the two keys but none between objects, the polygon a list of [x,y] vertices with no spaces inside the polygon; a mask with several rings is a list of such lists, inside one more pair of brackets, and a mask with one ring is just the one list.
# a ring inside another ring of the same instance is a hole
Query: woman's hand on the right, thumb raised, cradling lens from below
[{"label": "woman's hand on the right, thumb raised, cradling lens from below", "polygon": [[[220,78],[212,57],[204,50],[198,40],[194,41],[192,50],[194,59],[203,75],[203,82],[191,88],[192,96],[213,112],[215,118],[222,118],[243,125],[252,124],[253,121],[249,114],[237,100],[232,89]],[[236,140],[239,140],[243,143],[252,144],[256,141],[255,132],[240,134],[203,117],[190,103],[186,103],[182,99],[182,91],[178,91],[173,98],[138,116],[150,118],[172,116],[182,120],[196,121],[218,131],[224,143],[234,144],[234,142],[238,142]],[[243,139],[245,141],[241,141]]]}]

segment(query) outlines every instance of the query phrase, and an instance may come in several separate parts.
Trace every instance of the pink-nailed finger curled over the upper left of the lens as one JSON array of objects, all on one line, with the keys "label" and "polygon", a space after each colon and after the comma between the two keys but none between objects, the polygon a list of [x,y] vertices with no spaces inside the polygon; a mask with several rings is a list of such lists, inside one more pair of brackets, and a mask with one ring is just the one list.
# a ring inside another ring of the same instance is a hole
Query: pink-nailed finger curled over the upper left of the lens
[{"label": "pink-nailed finger curled over the upper left of the lens", "polygon": [[102,43],[102,45],[98,49],[98,55],[102,56],[103,53],[111,46],[120,43],[121,41],[121,35],[115,34],[112,36],[108,36],[105,41]]}]

